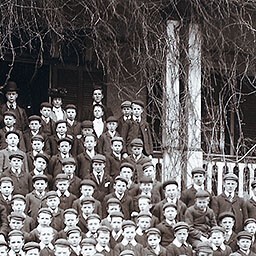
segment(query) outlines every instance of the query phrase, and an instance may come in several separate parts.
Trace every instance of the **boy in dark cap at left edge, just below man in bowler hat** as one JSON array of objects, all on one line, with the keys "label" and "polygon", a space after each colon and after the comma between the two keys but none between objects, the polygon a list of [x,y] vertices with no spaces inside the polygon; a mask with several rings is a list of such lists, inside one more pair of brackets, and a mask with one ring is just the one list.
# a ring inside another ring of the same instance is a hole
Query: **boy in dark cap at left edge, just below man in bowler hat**
[{"label": "boy in dark cap at left edge, just below man in bowler hat", "polygon": [[20,141],[19,141],[19,148],[26,152],[26,146],[23,138],[23,133],[15,128],[16,123],[16,115],[13,111],[6,111],[3,114],[3,122],[4,127],[0,129],[0,149],[4,149],[8,146],[5,140],[5,135],[8,131],[16,131],[19,134]]}]

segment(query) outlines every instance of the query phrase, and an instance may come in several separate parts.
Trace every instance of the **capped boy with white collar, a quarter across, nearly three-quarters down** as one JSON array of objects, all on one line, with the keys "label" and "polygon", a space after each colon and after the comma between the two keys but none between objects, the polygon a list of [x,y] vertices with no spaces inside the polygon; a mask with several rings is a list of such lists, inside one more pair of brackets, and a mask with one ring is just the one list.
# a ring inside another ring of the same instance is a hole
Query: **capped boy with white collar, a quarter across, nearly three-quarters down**
[{"label": "capped boy with white collar, a quarter across, nearly three-quarters down", "polygon": [[57,195],[60,198],[60,208],[66,210],[72,207],[76,196],[69,192],[69,178],[66,174],[60,173],[56,176],[55,186]]}]

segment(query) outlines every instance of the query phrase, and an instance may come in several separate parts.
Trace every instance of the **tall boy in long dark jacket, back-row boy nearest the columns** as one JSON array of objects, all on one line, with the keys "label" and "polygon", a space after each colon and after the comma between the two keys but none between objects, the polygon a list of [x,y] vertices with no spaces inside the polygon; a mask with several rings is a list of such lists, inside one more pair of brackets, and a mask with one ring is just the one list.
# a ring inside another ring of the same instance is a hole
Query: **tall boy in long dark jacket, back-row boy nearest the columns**
[{"label": "tall boy in long dark jacket, back-row boy nearest the columns", "polygon": [[140,138],[143,142],[143,153],[152,158],[153,140],[149,124],[143,120],[144,103],[140,100],[132,101],[132,119],[124,125],[123,137],[125,140],[124,152],[131,154],[131,142]]}]

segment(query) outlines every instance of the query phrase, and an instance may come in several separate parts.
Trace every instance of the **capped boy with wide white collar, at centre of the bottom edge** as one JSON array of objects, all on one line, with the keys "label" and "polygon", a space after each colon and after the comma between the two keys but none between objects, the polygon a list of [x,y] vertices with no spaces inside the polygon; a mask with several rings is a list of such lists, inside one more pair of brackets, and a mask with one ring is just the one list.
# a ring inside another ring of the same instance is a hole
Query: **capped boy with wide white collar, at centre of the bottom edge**
[{"label": "capped boy with wide white collar, at centre of the bottom edge", "polygon": [[144,248],[135,240],[136,225],[131,220],[125,220],[122,224],[123,240],[114,248],[114,255],[119,255],[124,250],[131,250],[135,256],[144,255]]}]

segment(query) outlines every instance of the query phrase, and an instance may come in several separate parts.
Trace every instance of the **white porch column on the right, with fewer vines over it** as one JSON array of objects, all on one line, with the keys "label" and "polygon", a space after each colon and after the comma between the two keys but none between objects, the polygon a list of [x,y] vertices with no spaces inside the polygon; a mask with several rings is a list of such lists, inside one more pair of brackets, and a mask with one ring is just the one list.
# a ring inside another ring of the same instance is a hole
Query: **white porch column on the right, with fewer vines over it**
[{"label": "white porch column on the right, with fewer vines over it", "polygon": [[187,185],[191,183],[191,170],[203,165],[201,150],[201,31],[199,25],[193,23],[189,26],[188,60]]}]

